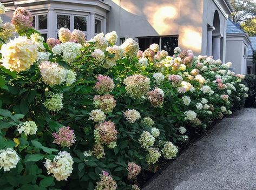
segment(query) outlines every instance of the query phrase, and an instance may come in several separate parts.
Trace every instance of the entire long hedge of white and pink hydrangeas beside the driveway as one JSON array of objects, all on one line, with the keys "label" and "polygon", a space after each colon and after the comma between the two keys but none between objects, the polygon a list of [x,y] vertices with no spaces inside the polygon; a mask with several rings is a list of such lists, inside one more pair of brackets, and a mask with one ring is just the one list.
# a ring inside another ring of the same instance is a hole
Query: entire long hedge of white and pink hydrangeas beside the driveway
[{"label": "entire long hedge of white and pink hydrangeas beside the driveway", "polygon": [[62,28],[44,43],[31,21],[18,8],[0,32],[1,189],[139,189],[137,175],[175,158],[188,126],[205,129],[247,95],[231,63],[116,46],[114,31],[86,42]]}]

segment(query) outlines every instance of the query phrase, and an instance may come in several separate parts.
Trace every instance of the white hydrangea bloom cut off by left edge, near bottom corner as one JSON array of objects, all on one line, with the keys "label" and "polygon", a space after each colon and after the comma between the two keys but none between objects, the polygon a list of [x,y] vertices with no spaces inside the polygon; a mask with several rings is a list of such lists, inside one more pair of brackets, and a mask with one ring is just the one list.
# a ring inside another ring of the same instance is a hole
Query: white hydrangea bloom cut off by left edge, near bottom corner
[{"label": "white hydrangea bloom cut off by left edge, near bottom corner", "polygon": [[0,169],[4,169],[4,172],[10,171],[11,168],[15,168],[20,158],[15,150],[7,148],[6,150],[0,150]]}]

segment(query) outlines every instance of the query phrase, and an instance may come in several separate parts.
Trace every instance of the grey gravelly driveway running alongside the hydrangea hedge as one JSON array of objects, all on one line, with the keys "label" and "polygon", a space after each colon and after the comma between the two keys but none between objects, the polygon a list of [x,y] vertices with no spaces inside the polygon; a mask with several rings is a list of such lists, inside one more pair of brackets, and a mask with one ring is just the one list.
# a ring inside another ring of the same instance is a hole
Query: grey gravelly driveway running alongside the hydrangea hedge
[{"label": "grey gravelly driveway running alongside the hydrangea hedge", "polygon": [[256,109],[223,119],[143,190],[256,190]]}]

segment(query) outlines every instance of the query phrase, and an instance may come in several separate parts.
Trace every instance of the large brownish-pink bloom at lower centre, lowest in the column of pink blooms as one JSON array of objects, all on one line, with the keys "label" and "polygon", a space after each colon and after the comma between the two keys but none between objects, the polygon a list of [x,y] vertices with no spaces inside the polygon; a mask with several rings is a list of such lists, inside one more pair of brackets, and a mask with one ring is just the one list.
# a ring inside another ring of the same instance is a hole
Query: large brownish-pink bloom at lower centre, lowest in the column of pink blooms
[{"label": "large brownish-pink bloom at lower centre, lowest in the column of pink blooms", "polygon": [[[110,144],[110,142],[116,141],[117,131],[115,129],[115,124],[112,121],[105,121],[99,125],[96,125],[96,133],[99,137],[96,137],[96,141],[103,144]],[[97,139],[99,138],[99,139]]]}]

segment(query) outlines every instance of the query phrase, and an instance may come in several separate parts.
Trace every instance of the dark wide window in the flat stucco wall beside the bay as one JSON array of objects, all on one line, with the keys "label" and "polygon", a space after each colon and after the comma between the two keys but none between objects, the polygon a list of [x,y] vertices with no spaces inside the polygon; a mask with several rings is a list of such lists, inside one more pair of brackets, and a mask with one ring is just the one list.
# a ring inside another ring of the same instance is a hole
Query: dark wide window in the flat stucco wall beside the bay
[{"label": "dark wide window in the flat stucco wall beside the bay", "polygon": [[140,50],[149,48],[150,44],[159,44],[160,50],[166,50],[169,55],[173,55],[173,50],[178,46],[178,36],[163,37],[139,37]]}]

